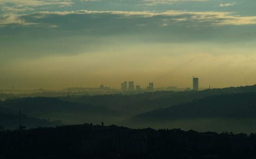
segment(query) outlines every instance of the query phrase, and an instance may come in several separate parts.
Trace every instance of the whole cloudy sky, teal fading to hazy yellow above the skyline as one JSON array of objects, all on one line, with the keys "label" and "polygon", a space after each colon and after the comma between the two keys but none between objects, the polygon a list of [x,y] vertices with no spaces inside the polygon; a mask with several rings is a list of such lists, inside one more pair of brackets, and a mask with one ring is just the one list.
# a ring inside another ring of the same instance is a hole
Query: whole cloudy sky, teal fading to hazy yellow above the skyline
[{"label": "whole cloudy sky, teal fading to hazy yellow above the skyline", "polygon": [[255,0],[0,0],[0,89],[256,83]]}]

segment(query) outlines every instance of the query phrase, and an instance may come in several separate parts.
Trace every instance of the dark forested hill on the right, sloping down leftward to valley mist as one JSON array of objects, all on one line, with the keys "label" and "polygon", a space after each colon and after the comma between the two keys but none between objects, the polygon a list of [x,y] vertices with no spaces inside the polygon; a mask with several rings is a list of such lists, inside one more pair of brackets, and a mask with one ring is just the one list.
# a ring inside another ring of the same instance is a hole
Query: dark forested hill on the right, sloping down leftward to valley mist
[{"label": "dark forested hill on the right, sloping down leftward to valley mist", "polygon": [[256,118],[256,93],[209,96],[134,117],[145,121],[195,118]]}]

